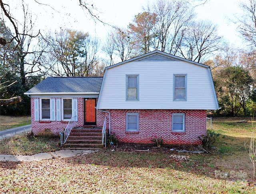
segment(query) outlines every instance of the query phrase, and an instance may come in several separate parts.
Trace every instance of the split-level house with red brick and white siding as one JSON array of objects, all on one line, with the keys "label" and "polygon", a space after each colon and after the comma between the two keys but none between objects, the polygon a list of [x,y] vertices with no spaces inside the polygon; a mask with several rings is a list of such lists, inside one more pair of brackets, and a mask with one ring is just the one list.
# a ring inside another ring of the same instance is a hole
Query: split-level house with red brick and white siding
[{"label": "split-level house with red brick and white siding", "polygon": [[76,126],[102,126],[121,142],[200,144],[206,111],[218,101],[210,67],[155,50],[105,69],[103,78],[46,78],[31,97],[32,131],[58,135]]}]

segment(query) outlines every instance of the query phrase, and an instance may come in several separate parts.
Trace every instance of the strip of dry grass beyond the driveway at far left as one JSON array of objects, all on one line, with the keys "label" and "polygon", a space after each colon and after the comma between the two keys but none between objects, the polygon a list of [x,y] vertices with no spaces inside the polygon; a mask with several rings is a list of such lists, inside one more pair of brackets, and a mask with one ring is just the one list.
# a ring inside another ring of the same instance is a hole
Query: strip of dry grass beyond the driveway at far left
[{"label": "strip of dry grass beyond the driveway at far left", "polygon": [[31,116],[0,115],[0,131],[31,124]]}]

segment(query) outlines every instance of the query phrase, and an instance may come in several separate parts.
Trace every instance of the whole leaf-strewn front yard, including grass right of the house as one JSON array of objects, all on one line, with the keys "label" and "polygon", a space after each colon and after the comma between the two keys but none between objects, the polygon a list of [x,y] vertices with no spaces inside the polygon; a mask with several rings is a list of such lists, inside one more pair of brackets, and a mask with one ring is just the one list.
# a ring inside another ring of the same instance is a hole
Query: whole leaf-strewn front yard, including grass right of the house
[{"label": "whole leaf-strewn front yard, including grass right of the house", "polygon": [[171,147],[136,151],[120,145],[115,151],[108,148],[65,159],[0,162],[0,192],[255,193],[252,163],[244,148],[252,123],[237,120],[213,119],[212,130],[221,135],[211,154],[176,152]]}]

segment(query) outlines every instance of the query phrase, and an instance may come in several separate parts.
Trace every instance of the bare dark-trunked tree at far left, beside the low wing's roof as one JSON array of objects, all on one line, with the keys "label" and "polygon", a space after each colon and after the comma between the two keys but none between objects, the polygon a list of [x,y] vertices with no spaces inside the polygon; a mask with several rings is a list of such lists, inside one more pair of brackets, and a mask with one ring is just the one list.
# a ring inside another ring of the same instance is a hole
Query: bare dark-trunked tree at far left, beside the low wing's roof
[{"label": "bare dark-trunked tree at far left, beside the low wing's roof", "polygon": [[[32,21],[32,15],[28,10],[28,6],[22,1],[22,14],[23,21],[18,21],[13,18],[10,13],[10,8],[8,4],[4,4],[0,0],[2,12],[6,18],[11,22],[14,28],[15,34],[12,38],[7,41],[8,48],[12,49],[12,52],[16,55],[16,68],[19,70],[21,77],[22,86],[26,86],[26,78],[40,71],[39,64],[41,62],[42,53],[44,48],[41,44],[42,36],[40,31],[34,32]],[[10,45],[15,45],[10,47]],[[7,45],[6,45],[7,46]]]}]

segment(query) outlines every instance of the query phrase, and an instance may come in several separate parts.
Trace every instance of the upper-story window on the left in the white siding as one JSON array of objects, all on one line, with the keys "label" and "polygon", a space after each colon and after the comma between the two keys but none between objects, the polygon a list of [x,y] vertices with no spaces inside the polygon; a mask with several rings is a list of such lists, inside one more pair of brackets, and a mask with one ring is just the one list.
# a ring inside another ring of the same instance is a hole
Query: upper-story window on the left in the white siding
[{"label": "upper-story window on the left in the white siding", "polygon": [[139,100],[138,75],[126,75],[126,100]]}]

